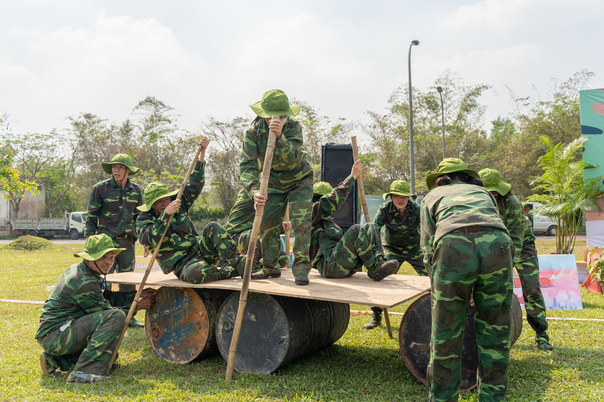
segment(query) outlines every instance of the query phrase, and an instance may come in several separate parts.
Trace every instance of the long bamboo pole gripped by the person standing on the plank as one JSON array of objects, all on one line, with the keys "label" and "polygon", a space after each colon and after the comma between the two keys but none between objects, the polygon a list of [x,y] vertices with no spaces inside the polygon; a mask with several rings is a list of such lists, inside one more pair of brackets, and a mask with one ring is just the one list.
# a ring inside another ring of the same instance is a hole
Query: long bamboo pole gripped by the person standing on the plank
[{"label": "long bamboo pole gripped by the person standing on the plank", "polygon": [[[278,120],[279,116],[272,116],[271,120]],[[264,165],[262,167],[262,179],[260,180],[260,195],[266,196],[266,190],[268,190],[268,180],[271,175],[272,156],[275,152],[275,140],[277,139],[277,133],[275,131],[269,131],[268,134],[268,145],[266,146],[266,154]],[[228,350],[228,361],[226,362],[226,381],[231,381],[233,378],[233,368],[235,366],[235,355],[237,353],[237,343],[239,343],[239,334],[241,332],[241,324],[243,323],[243,315],[245,313],[245,306],[248,303],[248,292],[249,292],[249,277],[252,274],[252,264],[254,263],[254,251],[256,248],[256,241],[258,234],[260,233],[260,222],[262,222],[262,215],[264,215],[264,206],[258,206],[256,208],[256,215],[254,216],[254,225],[252,226],[252,233],[249,236],[248,254],[245,260],[245,270],[243,271],[243,283],[241,285],[241,294],[239,295],[239,307],[237,308],[237,318],[235,319],[235,327],[233,329],[233,338],[231,338],[231,346]]]}]

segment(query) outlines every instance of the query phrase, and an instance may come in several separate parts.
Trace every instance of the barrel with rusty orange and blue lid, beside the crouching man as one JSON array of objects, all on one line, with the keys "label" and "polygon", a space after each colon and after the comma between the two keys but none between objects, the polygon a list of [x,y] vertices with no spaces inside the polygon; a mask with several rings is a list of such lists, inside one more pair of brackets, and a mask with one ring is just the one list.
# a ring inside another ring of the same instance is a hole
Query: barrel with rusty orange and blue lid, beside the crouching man
[{"label": "barrel with rusty orange and blue lid, beside the crouching man", "polygon": [[160,287],[145,315],[145,331],[155,353],[169,363],[188,363],[215,353],[216,317],[233,293],[219,289]]}]

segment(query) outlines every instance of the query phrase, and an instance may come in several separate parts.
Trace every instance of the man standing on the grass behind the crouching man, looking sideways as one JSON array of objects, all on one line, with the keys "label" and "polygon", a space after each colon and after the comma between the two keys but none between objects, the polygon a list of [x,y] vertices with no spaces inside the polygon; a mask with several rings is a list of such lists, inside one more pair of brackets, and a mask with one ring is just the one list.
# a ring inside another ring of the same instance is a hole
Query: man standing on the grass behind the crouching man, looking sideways
[{"label": "man standing on the grass behind the crouching man, looking sideways", "polygon": [[[115,258],[109,273],[132,272],[135,263],[134,243],[137,241],[135,221],[137,207],[143,205],[143,192],[138,184],[130,181],[130,177],[138,174],[140,169],[133,165],[132,158],[127,154],[117,154],[111,162],[103,162],[102,165],[111,177],[92,186],[84,236],[104,233],[114,239],[126,250]],[[130,292],[135,290],[135,285],[120,284],[118,289]],[[132,316],[129,326],[144,327],[144,324]]]}]

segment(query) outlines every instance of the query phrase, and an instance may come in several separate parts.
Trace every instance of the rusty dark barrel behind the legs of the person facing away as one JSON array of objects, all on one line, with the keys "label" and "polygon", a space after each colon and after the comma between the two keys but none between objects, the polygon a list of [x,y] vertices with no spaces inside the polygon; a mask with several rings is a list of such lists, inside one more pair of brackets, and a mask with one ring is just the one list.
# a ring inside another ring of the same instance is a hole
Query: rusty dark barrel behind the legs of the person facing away
[{"label": "rusty dark barrel behind the legs of the person facing away", "polygon": [[[400,322],[399,345],[405,364],[425,385],[428,385],[426,370],[430,360],[430,338],[432,331],[430,294],[423,295],[411,303]],[[478,345],[474,315],[476,309],[470,307],[466,328],[463,332],[461,348],[461,391],[476,388],[476,371],[478,369]],[[512,298],[512,345],[518,341],[522,333],[522,309],[518,298]]]}]

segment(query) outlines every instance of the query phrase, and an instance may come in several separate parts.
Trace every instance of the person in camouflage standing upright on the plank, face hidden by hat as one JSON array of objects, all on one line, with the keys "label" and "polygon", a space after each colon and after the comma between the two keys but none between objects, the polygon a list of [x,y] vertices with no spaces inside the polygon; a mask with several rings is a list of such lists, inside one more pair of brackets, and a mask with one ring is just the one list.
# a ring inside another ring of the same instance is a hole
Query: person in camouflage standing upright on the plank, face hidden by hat
[{"label": "person in camouflage standing upright on the plank, face hidden by hat", "polygon": [[[308,284],[310,271],[310,221],[312,219],[312,168],[306,160],[302,145],[302,127],[292,116],[300,112],[299,105],[290,105],[289,99],[278,89],[264,94],[262,101],[250,105],[258,115],[246,130],[243,138],[241,162],[242,193],[237,198],[233,211],[242,207],[249,199],[255,206],[264,205],[260,226],[262,270],[252,274],[254,279],[280,277],[279,243],[285,207],[289,201],[291,221],[294,222],[294,265],[292,273],[295,283]],[[279,119],[271,120],[271,116]],[[260,195],[260,175],[268,145],[269,130],[277,133],[275,154],[272,160],[267,196]]]}]

